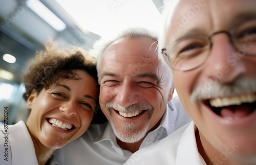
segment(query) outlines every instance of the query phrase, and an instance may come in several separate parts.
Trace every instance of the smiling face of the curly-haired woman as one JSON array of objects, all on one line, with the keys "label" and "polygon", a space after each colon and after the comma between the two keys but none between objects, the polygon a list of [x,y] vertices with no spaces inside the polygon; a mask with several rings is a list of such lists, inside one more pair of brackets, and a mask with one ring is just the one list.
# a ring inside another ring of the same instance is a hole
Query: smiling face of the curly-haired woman
[{"label": "smiling face of the curly-haired woman", "polygon": [[33,90],[27,100],[31,113],[26,125],[37,144],[60,148],[81,136],[92,121],[97,82],[85,71],[73,71],[80,79],[62,78],[38,95]]}]

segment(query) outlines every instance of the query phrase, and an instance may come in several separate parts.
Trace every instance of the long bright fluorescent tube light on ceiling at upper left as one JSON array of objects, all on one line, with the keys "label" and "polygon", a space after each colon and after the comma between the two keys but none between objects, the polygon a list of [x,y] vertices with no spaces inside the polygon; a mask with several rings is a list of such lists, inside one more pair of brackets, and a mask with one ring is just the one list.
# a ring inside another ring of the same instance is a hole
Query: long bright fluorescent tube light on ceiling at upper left
[{"label": "long bright fluorescent tube light on ceiling at upper left", "polygon": [[49,23],[56,31],[61,32],[66,29],[67,25],[40,1],[27,0],[26,5]]}]

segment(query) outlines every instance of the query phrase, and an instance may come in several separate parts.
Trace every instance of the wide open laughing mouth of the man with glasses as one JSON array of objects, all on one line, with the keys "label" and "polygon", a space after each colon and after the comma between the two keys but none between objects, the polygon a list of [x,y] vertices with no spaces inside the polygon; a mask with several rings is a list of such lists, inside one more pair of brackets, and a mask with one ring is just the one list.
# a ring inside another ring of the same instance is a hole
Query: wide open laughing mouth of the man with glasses
[{"label": "wide open laughing mouth of the man with glasses", "polygon": [[226,119],[241,119],[250,115],[256,108],[256,94],[243,94],[205,100],[211,110]]}]

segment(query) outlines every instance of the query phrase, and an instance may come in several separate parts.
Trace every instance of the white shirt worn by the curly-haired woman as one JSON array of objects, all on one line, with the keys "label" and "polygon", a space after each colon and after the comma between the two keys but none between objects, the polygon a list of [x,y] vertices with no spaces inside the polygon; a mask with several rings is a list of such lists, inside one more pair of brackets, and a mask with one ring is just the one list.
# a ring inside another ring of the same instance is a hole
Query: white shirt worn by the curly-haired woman
[{"label": "white shirt worn by the curly-haired woman", "polygon": [[[0,127],[0,164],[38,164],[34,144],[25,123],[19,121],[14,125],[8,125],[7,131],[5,130],[2,125]],[[7,157],[4,157],[5,152]]]}]

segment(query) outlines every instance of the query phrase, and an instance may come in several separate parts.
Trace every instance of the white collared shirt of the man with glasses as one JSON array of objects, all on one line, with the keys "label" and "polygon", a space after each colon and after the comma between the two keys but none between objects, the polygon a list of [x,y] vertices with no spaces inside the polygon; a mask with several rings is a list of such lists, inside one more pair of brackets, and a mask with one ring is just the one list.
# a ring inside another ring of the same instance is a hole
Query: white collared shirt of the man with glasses
[{"label": "white collared shirt of the man with glasses", "polygon": [[143,148],[143,152],[135,152],[124,165],[206,165],[197,149],[196,130],[194,122],[191,122],[165,139]]}]

